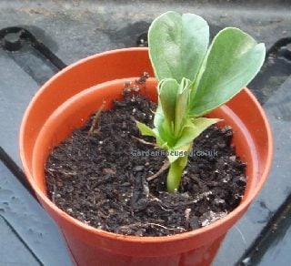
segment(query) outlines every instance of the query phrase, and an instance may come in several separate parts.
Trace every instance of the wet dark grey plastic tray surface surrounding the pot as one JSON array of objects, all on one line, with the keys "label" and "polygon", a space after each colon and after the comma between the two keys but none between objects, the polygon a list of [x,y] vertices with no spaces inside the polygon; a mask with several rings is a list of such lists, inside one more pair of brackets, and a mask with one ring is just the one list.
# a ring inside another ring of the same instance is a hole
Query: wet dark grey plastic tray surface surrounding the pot
[{"label": "wet dark grey plastic tray surface surrounding the pot", "polygon": [[[237,26],[270,49],[249,87],[273,128],[273,168],[256,201],[228,232],[214,265],[290,264],[291,1],[6,0],[0,1],[0,265],[71,265],[55,223],[18,181],[23,175],[17,135],[30,99],[63,63],[136,46],[156,15],[167,10],[202,15],[213,35]],[[11,26],[25,28],[35,40],[22,38],[20,50],[7,51],[5,29]]]}]

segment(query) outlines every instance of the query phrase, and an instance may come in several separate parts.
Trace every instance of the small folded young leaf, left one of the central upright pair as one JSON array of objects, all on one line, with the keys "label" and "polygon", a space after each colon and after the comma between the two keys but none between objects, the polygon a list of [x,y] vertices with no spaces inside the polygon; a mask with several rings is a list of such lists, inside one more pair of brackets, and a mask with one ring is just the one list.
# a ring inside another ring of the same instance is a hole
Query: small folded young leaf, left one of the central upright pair
[{"label": "small folded young leaf, left one of the central upright pair", "polygon": [[173,132],[176,117],[176,96],[179,84],[175,79],[163,79],[158,85],[158,97],[163,109],[167,127]]}]

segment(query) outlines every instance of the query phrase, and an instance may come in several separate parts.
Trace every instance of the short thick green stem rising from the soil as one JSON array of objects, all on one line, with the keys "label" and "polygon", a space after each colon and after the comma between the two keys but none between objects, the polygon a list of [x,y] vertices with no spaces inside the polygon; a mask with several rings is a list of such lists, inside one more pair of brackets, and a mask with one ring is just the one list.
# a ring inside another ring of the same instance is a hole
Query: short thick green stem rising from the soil
[{"label": "short thick green stem rising from the soil", "polygon": [[166,189],[168,192],[176,192],[179,189],[183,170],[186,168],[188,156],[180,157],[174,161],[167,173]]}]

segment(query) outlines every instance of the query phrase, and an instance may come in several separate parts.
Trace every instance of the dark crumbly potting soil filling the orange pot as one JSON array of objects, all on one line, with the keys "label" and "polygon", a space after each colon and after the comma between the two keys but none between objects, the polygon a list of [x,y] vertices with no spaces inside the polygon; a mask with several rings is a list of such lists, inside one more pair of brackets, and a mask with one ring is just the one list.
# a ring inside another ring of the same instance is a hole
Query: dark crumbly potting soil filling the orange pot
[{"label": "dark crumbly potting soil filling the orange pot", "polygon": [[212,126],[196,138],[177,193],[166,192],[167,170],[146,181],[167,160],[140,140],[155,142],[141,136],[135,120],[153,127],[155,109],[146,97],[127,93],[99,114],[94,132],[95,116],[75,129],[47,159],[51,200],[86,224],[135,236],[195,230],[234,210],[244,195],[246,165],[236,157],[230,127]]}]

